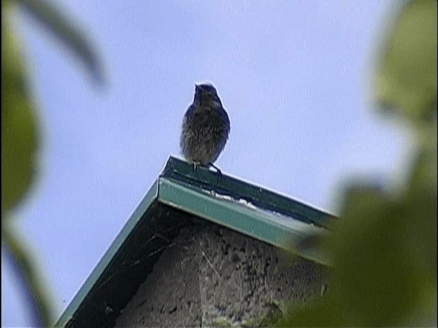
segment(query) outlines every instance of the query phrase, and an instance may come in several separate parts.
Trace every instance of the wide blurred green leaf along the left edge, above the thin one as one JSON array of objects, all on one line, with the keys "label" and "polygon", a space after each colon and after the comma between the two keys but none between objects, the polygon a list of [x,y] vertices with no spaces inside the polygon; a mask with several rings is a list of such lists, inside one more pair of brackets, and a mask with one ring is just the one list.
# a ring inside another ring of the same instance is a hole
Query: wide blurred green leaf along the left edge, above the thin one
[{"label": "wide blurred green leaf along the left edge, above the thin one", "polygon": [[[8,8],[5,8],[5,7]],[[23,200],[35,179],[38,126],[21,40],[10,27],[13,3],[1,19],[1,213]]]}]

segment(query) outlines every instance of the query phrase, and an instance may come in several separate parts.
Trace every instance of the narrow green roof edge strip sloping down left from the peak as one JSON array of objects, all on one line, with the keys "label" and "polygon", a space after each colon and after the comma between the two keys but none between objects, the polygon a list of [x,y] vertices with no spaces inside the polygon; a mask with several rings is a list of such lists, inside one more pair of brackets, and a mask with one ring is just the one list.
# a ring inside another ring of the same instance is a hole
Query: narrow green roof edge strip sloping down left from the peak
[{"label": "narrow green roof edge strip sloping down left from the peak", "polygon": [[94,284],[96,284],[99,277],[102,275],[105,268],[110,264],[112,258],[116,255],[118,249],[123,244],[131,230],[136,226],[138,221],[142,218],[147,208],[151,206],[154,200],[157,199],[158,195],[158,181],[155,180],[151,189],[146,193],[143,197],[140,204],[138,204],[136,210],[132,213],[131,217],[125,223],[122,230],[116,236],[116,239],[112,242],[110,248],[107,249],[99,263],[94,267],[92,273],[86,279],[86,282],[83,283],[79,291],[76,293],[73,300],[68,304],[66,310],[62,313],[61,317],[55,323],[55,327],[64,327],[68,321],[73,318],[73,314],[77,311],[83,300],[86,298]]}]

